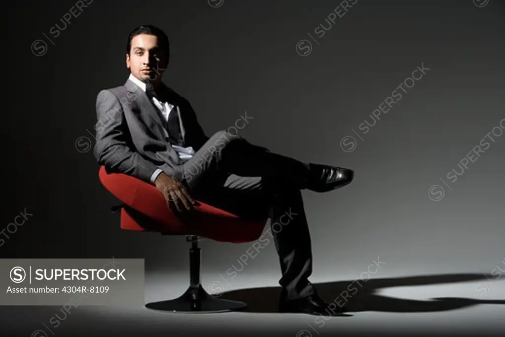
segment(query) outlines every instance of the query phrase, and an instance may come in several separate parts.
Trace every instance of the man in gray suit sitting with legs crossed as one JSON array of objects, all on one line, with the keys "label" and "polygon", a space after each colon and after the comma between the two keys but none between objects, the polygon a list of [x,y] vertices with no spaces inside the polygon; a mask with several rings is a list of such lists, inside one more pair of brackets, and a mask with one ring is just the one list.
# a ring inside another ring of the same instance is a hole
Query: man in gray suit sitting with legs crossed
[{"label": "man in gray suit sitting with legs crossed", "polygon": [[154,26],[139,26],[128,37],[122,86],[96,98],[94,154],[108,172],[152,183],[181,217],[195,199],[251,219],[289,223],[273,230],[279,255],[281,312],[333,316],[308,280],[312,250],[301,189],[330,191],[351,182],[350,169],[270,152],[227,131],[205,135],[189,102],[162,82],[169,64],[169,40]]}]

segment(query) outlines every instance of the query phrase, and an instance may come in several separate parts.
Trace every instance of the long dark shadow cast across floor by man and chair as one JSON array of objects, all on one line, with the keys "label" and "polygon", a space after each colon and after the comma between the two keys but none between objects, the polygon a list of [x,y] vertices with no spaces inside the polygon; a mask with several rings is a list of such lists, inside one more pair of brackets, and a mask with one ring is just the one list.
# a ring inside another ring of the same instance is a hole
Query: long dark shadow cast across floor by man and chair
[{"label": "long dark shadow cast across floor by man and chair", "polygon": [[[314,286],[319,296],[328,304],[335,302],[345,304],[343,296],[347,291],[346,306],[349,312],[359,311],[382,311],[382,312],[433,312],[456,310],[478,304],[505,304],[505,300],[486,300],[484,294],[487,294],[485,274],[442,274],[442,275],[423,275],[398,278],[378,278],[368,281],[350,280],[338,282],[315,283]],[[494,276],[493,276],[494,277]],[[474,298],[437,298],[429,301],[406,300],[399,298],[386,297],[378,295],[378,290],[397,286],[415,286],[427,284],[442,284],[455,282],[469,282],[469,297]],[[354,283],[353,283],[354,282]],[[360,286],[361,284],[361,286]],[[278,301],[280,287],[263,287],[253,289],[241,289],[222,294],[219,298],[243,301],[247,303],[244,312],[271,313],[278,312]],[[479,296],[482,298],[479,299]],[[329,310],[329,309],[328,309]]]}]

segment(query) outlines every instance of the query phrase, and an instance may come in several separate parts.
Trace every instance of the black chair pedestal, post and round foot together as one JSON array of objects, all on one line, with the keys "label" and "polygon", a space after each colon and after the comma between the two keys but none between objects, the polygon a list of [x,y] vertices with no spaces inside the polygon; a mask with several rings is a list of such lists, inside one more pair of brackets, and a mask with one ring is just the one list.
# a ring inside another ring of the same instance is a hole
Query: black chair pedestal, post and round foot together
[{"label": "black chair pedestal, post and round foot together", "polygon": [[159,302],[150,302],[146,308],[184,313],[211,313],[235,311],[245,308],[244,302],[218,299],[209,295],[200,284],[200,248],[195,235],[187,235],[189,249],[189,287],[180,297]]}]

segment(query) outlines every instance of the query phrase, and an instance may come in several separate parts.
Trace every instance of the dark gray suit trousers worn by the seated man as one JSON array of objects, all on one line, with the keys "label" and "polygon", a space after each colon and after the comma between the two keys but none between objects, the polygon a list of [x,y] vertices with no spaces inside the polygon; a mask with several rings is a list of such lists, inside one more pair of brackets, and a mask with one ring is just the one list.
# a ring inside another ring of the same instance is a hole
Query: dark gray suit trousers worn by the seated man
[{"label": "dark gray suit trousers worn by the seated man", "polygon": [[201,202],[248,219],[271,220],[282,296],[312,295],[309,227],[301,196],[308,164],[216,132],[183,164],[183,183]]}]

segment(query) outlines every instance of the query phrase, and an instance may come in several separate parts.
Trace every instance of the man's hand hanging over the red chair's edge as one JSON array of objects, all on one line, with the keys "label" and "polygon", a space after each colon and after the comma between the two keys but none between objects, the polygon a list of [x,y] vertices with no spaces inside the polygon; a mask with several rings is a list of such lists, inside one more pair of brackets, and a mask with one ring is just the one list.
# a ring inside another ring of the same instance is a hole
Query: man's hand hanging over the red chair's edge
[{"label": "man's hand hanging over the red chair's edge", "polygon": [[167,205],[173,210],[173,207],[178,212],[193,210],[193,205],[197,202],[191,198],[187,189],[176,179],[171,178],[165,172],[158,175],[155,181],[156,188],[160,190],[167,200]]}]

